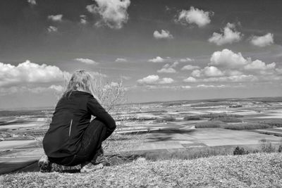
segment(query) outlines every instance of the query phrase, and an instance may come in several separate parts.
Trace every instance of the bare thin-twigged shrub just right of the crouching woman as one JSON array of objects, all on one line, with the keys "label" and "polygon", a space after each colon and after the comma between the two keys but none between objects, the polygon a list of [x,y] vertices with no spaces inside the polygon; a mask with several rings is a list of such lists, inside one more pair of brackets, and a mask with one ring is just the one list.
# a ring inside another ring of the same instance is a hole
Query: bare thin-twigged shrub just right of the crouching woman
[{"label": "bare thin-twigged shrub just right of the crouching woman", "polygon": [[[134,122],[138,118],[135,117],[133,106],[125,105],[125,89],[123,87],[123,80],[118,82],[109,82],[102,75],[96,75],[95,94],[101,102],[102,106],[110,113],[116,120],[116,130],[111,136],[103,142],[103,148],[109,156],[115,156],[118,154],[121,158],[123,151],[130,151],[133,149],[134,144],[141,144],[142,140],[147,134],[122,134],[118,133],[126,127],[126,129],[133,129]],[[138,119],[138,122],[142,122],[142,119]],[[127,157],[123,159],[126,160]]]}]

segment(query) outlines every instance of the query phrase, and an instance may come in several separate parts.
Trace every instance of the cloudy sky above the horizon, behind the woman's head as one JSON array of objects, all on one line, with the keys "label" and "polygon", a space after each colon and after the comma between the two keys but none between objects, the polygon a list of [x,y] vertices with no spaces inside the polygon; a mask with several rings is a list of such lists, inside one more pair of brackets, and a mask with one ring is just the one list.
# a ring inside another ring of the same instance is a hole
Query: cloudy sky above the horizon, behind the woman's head
[{"label": "cloudy sky above the horizon, behind the woman's head", "polygon": [[0,108],[54,106],[75,70],[128,102],[281,96],[280,0],[1,0]]}]

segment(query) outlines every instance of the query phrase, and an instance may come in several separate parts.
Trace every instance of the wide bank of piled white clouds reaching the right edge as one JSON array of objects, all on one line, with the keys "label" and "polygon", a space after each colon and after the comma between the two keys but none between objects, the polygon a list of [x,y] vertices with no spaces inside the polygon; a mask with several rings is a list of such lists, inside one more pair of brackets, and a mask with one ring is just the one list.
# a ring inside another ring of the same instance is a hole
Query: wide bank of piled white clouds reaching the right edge
[{"label": "wide bank of piled white clouds reaching the right edge", "polygon": [[251,58],[244,58],[242,54],[236,54],[229,49],[215,51],[210,61],[209,66],[192,70],[190,77],[185,78],[183,82],[274,82],[282,80],[282,68],[276,68],[276,63],[252,61]]}]

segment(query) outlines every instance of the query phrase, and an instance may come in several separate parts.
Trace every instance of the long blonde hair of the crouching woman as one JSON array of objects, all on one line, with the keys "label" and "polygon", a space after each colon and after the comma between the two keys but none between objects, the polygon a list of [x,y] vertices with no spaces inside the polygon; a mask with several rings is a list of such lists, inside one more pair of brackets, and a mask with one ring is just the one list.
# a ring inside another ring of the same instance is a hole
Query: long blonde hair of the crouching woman
[{"label": "long blonde hair of the crouching woman", "polygon": [[90,73],[85,70],[76,70],[71,76],[71,80],[68,82],[68,86],[66,87],[66,91],[63,93],[63,96],[66,96],[68,93],[71,95],[71,92],[73,91],[82,91],[92,94],[94,98],[99,101],[95,94],[94,87],[94,78],[90,75]]}]

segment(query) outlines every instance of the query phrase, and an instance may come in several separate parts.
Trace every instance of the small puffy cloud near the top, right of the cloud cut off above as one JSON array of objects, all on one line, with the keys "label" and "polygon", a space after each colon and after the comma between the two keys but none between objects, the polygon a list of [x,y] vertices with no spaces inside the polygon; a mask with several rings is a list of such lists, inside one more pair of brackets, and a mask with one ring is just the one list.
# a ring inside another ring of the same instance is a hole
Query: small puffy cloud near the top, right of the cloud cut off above
[{"label": "small puffy cloud near the top, right of the cloud cut off above", "polygon": [[203,27],[211,22],[209,16],[212,13],[204,12],[198,8],[190,7],[190,10],[182,10],[177,18],[177,21],[183,25],[195,23],[198,27]]}]

